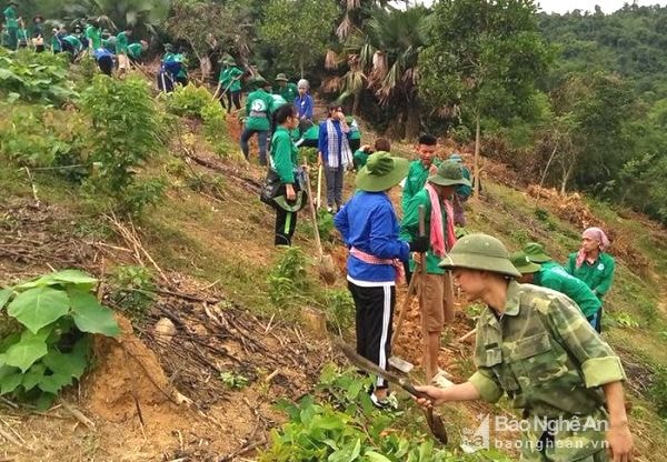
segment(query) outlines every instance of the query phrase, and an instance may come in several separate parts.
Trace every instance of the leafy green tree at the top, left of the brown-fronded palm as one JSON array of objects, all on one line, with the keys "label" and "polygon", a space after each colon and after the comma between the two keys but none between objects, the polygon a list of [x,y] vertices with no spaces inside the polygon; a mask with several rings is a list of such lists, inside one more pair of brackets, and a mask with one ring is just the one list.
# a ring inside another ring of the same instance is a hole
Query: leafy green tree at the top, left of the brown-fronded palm
[{"label": "leafy green tree at the top, left of the brown-fronded palm", "polygon": [[259,38],[275,47],[281,67],[299,69],[313,66],[327,51],[338,16],[332,1],[270,0],[263,10]]}]

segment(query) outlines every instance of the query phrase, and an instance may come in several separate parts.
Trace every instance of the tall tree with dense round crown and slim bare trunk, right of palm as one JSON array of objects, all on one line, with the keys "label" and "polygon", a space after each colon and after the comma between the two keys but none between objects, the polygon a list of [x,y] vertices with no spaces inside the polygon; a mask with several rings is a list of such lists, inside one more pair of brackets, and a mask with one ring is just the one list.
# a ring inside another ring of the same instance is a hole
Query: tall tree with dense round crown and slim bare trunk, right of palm
[{"label": "tall tree with dense round crown and slim bare trunk, right of palm", "polygon": [[420,61],[422,99],[434,109],[458,104],[471,116],[475,178],[480,120],[502,121],[526,111],[535,80],[549,63],[536,11],[531,0],[441,0],[435,7],[432,44]]}]

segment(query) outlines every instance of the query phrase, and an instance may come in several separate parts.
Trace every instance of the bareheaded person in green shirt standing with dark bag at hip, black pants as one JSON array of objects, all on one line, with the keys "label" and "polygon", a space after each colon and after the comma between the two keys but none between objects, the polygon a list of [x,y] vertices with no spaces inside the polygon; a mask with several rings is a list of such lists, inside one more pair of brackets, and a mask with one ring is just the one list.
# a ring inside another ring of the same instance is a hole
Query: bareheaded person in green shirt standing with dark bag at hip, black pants
[{"label": "bareheaded person in green shirt standing with dark bag at hip, black pants", "polygon": [[299,127],[297,109],[282,104],[275,113],[276,131],[271,138],[270,169],[280,182],[276,200],[276,245],[291,245],[297,228],[297,211],[305,205],[299,149],[290,132]]}]

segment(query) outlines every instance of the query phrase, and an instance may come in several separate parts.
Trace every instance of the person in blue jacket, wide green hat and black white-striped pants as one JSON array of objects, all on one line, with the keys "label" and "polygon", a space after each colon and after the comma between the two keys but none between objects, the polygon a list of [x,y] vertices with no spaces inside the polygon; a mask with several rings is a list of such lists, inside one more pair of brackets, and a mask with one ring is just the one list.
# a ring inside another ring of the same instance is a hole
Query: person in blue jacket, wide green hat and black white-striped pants
[{"label": "person in blue jacket, wide green hat and black white-striped pants", "polygon": [[[410,252],[425,252],[428,238],[408,243],[398,237],[399,225],[388,191],[408,173],[408,161],[376,152],[357,173],[357,194],[336,214],[334,223],[349,249],[348,289],[356,308],[357,353],[387,368],[391,355],[391,325],[396,281]],[[378,376],[371,401],[389,406],[387,381]]]}]

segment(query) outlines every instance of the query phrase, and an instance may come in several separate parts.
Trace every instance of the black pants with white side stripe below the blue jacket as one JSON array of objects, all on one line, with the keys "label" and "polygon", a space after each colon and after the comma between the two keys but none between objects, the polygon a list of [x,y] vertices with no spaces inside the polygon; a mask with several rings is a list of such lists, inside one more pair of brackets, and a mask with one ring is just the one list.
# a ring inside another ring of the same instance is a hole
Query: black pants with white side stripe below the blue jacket
[{"label": "black pants with white side stripe below the blue jacket", "polygon": [[[396,307],[396,287],[364,288],[348,281],[356,307],[357,353],[387,369],[391,355],[391,327]],[[387,381],[377,378],[375,388],[386,389]]]}]

